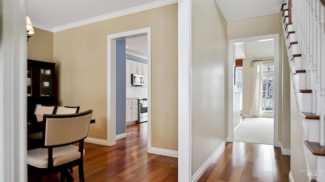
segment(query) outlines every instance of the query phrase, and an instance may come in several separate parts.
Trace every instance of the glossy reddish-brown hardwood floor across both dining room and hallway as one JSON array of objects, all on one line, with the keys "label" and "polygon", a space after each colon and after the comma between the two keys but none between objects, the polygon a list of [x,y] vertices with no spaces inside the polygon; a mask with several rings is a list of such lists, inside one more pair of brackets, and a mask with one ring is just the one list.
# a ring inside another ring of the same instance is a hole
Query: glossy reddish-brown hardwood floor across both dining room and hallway
[{"label": "glossy reddish-brown hardwood floor across both dining room and hallway", "polygon": [[[147,153],[147,123],[126,130],[126,138],[111,147],[85,143],[85,181],[177,181],[177,158]],[[227,143],[199,181],[288,181],[289,164],[272,145]],[[31,176],[28,181],[34,181]],[[78,167],[73,177],[79,181]]]}]

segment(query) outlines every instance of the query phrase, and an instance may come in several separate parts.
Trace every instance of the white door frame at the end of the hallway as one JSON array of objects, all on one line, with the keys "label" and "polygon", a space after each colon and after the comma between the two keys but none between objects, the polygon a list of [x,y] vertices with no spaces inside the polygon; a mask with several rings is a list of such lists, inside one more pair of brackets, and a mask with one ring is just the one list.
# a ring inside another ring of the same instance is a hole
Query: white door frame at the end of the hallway
[{"label": "white door frame at the end of the hallway", "polygon": [[235,43],[258,41],[263,39],[274,39],[274,147],[279,147],[279,35],[271,34],[259,37],[234,39],[229,41],[229,61],[228,61],[228,141],[234,141],[234,48]]}]

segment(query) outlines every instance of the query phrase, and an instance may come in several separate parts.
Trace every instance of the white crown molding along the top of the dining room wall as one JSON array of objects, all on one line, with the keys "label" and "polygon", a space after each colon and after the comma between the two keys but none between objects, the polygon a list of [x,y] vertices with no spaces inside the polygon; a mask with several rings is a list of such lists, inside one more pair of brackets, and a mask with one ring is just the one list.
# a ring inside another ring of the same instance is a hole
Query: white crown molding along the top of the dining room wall
[{"label": "white crown molding along the top of the dining room wall", "polygon": [[[62,25],[62,26],[58,26],[58,27],[54,27],[52,28],[52,32],[57,32],[57,31],[62,31],[62,30],[66,30],[66,29],[70,29],[70,28],[75,28],[78,26],[83,26],[83,25],[87,25],[87,24],[91,24],[91,23],[96,23],[96,22],[100,22],[100,21],[104,21],[104,20],[108,20],[108,19],[112,19],[112,18],[117,18],[120,16],[125,16],[125,15],[129,15],[129,14],[133,14],[133,13],[138,13],[141,11],[146,11],[146,10],[150,10],[153,8],[158,8],[158,7],[162,7],[162,6],[167,6],[167,5],[171,5],[177,3],[177,0],[160,0],[160,1],[156,1],[153,3],[148,3],[146,5],[141,5],[138,7],[134,7],[134,8],[129,8],[126,10],[121,10],[118,12],[114,12],[114,13],[109,13],[106,15],[102,15],[102,16],[98,16],[98,17],[94,17],[94,18],[89,18],[86,20],[82,20],[82,21],[77,21],[74,23],[69,23],[66,25]],[[34,23],[33,23],[34,25]],[[39,26],[44,27],[44,26]],[[48,27],[44,27],[46,29],[49,29]]]}]

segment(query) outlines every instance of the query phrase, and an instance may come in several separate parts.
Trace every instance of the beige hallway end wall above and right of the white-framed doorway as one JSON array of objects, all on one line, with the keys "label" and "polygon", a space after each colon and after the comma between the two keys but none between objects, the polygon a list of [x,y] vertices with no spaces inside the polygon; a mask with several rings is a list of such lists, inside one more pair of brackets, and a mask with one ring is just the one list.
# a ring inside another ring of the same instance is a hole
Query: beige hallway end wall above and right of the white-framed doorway
[{"label": "beige hallway end wall above and right of the white-framed doorway", "polygon": [[288,142],[290,139],[290,120],[287,117],[282,117],[282,114],[287,115],[287,113],[290,112],[290,107],[287,107],[285,104],[283,105],[281,102],[289,103],[290,100],[289,97],[282,97],[283,93],[281,92],[281,90],[289,90],[289,85],[283,85],[282,83],[283,80],[287,83],[289,77],[287,75],[282,76],[281,72],[282,62],[287,60],[282,59],[281,56],[283,54],[282,51],[284,51],[283,46],[285,45],[282,44],[283,32],[280,14],[228,23],[228,40],[269,34],[279,34],[279,140],[282,143],[283,148],[290,149],[290,142]]}]

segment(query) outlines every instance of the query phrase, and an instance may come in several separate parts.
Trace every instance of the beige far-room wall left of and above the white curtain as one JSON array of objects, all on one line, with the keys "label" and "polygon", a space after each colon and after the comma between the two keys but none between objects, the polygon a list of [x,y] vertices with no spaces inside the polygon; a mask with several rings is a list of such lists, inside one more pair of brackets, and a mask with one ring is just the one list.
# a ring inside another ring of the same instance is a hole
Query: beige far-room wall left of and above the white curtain
[{"label": "beige far-room wall left of and above the white curtain", "polygon": [[[262,60],[262,59],[273,59],[273,57],[257,57],[243,59],[243,115],[248,115],[252,92],[253,92],[253,76],[254,76],[254,65],[252,60]],[[263,61],[263,64],[272,64],[273,60]]]}]

